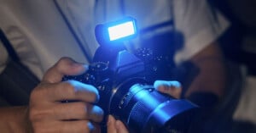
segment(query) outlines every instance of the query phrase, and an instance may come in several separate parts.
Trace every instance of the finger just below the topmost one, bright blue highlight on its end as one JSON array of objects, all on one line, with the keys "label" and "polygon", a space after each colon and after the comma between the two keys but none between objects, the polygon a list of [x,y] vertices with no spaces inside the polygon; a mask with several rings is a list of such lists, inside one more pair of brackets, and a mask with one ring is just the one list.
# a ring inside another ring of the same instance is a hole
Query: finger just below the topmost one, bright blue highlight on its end
[{"label": "finger just below the topmost one, bright blue highlight on its end", "polygon": [[[44,84],[38,91],[32,92],[34,98],[44,98],[47,102],[60,101],[83,101],[86,103],[97,103],[99,92],[94,86],[81,83],[76,80],[67,80],[61,83]],[[38,94],[37,94],[38,93]]]}]

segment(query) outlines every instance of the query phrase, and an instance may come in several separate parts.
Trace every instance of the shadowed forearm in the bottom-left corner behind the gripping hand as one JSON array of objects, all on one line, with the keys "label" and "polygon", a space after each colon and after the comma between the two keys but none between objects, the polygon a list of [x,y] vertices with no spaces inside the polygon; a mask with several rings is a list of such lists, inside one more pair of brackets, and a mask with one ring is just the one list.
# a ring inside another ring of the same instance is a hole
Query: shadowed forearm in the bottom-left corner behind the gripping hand
[{"label": "shadowed forearm in the bottom-left corner behind the gripping hand", "polygon": [[0,129],[3,133],[27,133],[27,107],[0,108]]}]

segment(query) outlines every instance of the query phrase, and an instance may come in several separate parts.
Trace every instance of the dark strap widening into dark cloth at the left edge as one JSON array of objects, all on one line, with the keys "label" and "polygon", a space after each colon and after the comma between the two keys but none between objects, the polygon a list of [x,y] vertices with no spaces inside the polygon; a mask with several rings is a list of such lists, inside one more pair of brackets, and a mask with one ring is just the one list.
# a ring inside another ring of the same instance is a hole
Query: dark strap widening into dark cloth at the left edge
[{"label": "dark strap widening into dark cloth at the left edge", "polygon": [[7,103],[12,106],[26,105],[29,103],[32,89],[38,85],[39,80],[30,69],[20,63],[15,49],[1,29],[0,37],[10,57],[0,74],[0,106],[6,106]]}]

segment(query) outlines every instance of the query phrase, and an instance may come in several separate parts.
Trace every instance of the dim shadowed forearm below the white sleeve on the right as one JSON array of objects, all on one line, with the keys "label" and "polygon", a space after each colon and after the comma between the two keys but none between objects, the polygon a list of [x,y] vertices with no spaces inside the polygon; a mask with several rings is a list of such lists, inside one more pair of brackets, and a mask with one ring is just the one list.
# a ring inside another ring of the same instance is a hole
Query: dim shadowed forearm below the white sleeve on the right
[{"label": "dim shadowed forearm below the white sleeve on the right", "polygon": [[217,42],[195,55],[191,61],[200,68],[200,74],[189,87],[186,97],[193,92],[210,92],[218,98],[223,97],[226,73],[224,58]]}]

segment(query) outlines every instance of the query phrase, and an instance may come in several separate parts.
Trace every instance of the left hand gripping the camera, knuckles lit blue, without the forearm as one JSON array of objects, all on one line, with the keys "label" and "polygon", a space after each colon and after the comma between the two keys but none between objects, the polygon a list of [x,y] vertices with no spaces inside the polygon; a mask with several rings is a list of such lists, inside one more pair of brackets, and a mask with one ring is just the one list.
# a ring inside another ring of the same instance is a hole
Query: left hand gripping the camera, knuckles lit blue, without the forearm
[{"label": "left hand gripping the camera, knuckles lit blue, without the forearm", "polygon": [[[94,104],[99,100],[96,88],[76,80],[61,81],[63,75],[79,75],[86,70],[86,65],[61,58],[45,73],[30,98],[33,132],[100,132],[103,111]],[[66,100],[73,102],[61,102]]]}]

